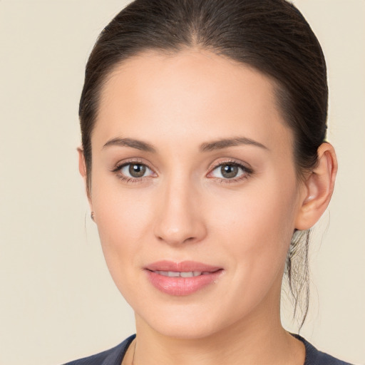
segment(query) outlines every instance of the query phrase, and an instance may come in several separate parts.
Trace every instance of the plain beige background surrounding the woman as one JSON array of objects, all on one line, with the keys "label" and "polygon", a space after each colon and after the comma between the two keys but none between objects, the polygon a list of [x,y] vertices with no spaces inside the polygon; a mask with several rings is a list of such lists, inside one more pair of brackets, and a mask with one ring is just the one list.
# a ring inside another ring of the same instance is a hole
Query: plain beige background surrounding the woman
[{"label": "plain beige background surrounding the woman", "polygon": [[[0,0],[1,365],[61,364],[134,331],[76,163],[86,59],[126,2]],[[315,287],[302,334],[365,364],[365,1],[295,4],[327,56],[329,140],[340,166],[331,214],[312,242]]]}]

